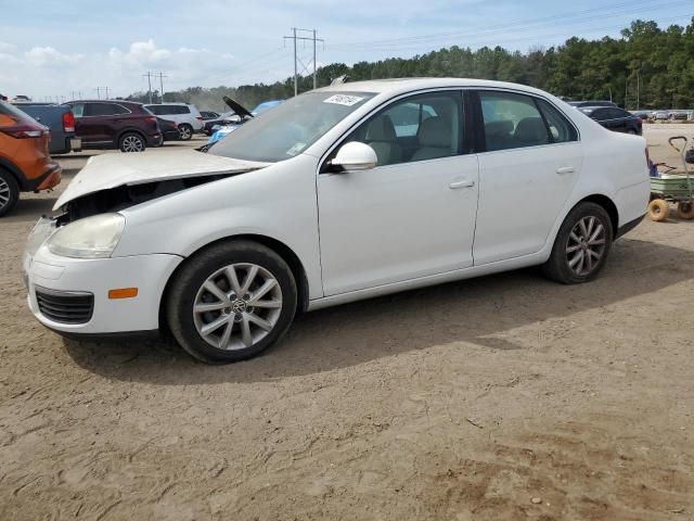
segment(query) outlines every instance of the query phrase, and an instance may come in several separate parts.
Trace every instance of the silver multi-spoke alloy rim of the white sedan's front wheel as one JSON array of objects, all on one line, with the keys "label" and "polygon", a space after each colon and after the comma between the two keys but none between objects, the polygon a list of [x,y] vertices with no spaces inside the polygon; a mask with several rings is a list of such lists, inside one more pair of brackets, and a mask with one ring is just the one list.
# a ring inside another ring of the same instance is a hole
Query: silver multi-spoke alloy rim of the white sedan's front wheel
[{"label": "silver multi-spoke alloy rim of the white sedan's front wheel", "polygon": [[201,338],[223,351],[245,350],[277,326],[282,290],[277,278],[255,264],[232,264],[208,277],[193,302]]}]

